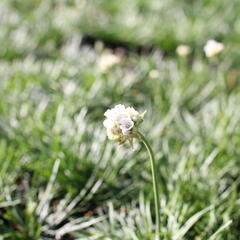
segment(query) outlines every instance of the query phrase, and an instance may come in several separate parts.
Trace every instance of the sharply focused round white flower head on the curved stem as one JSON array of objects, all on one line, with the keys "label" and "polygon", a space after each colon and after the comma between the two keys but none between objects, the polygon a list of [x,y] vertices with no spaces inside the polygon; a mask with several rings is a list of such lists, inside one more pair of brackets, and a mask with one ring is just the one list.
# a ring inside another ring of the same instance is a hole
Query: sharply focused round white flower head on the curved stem
[{"label": "sharply focused round white flower head on the curved stem", "polygon": [[103,122],[107,129],[107,136],[110,140],[117,140],[120,144],[132,139],[136,136],[136,127],[142,122],[144,113],[139,114],[133,107],[125,107],[122,104],[116,105],[112,109],[108,109],[104,116]]}]

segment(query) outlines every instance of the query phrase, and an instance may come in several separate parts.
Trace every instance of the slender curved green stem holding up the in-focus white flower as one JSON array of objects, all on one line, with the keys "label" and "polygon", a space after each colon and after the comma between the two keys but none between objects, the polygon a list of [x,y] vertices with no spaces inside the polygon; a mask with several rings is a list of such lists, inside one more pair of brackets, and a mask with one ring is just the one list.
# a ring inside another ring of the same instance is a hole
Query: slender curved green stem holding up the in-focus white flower
[{"label": "slender curved green stem holding up the in-focus white flower", "polygon": [[139,131],[137,132],[138,136],[142,140],[143,144],[145,145],[151,162],[151,169],[152,169],[152,181],[153,181],[153,192],[154,192],[154,201],[155,201],[155,212],[156,212],[156,240],[159,240],[160,234],[160,200],[159,200],[159,191],[158,191],[158,180],[157,180],[157,171],[156,171],[156,163],[152,148],[150,147],[147,139],[144,137],[142,133]]}]

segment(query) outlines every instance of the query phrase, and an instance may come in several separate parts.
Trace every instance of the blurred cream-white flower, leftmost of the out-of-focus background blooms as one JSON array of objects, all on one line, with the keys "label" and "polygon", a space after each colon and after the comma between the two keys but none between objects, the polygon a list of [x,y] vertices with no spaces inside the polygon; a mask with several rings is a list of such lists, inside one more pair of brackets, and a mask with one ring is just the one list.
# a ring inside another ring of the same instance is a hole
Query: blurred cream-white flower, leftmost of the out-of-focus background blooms
[{"label": "blurred cream-white flower, leftmost of the out-of-focus background blooms", "polygon": [[101,72],[106,72],[112,66],[120,63],[120,57],[111,53],[103,53],[99,58],[98,66]]}]

